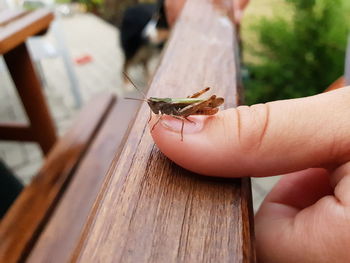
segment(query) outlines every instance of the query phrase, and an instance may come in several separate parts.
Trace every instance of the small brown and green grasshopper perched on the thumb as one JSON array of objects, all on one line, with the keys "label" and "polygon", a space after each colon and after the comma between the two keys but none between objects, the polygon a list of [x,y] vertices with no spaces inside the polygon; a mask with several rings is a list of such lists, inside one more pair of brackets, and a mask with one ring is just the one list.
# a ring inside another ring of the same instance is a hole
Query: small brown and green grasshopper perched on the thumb
[{"label": "small brown and green grasshopper perched on the thumb", "polygon": [[[150,97],[146,98],[146,95],[132,82],[132,80],[124,73],[125,77],[131,82],[131,84],[141,92],[145,99],[142,101],[147,102],[150,107],[150,118],[148,122],[151,120],[152,112],[157,115],[157,120],[151,128],[151,132],[155,128],[155,126],[159,123],[163,115],[169,115],[173,118],[179,119],[182,121],[181,125],[181,141],[183,141],[183,129],[185,125],[185,120],[192,122],[192,120],[188,119],[188,116],[191,115],[214,115],[219,111],[219,106],[224,103],[224,98],[217,97],[216,95],[212,95],[207,99],[198,98],[208,90],[209,87],[194,93],[191,96],[187,96],[186,98],[155,98]],[[126,99],[134,99],[134,98],[126,98]],[[138,100],[138,99],[136,99]]]}]

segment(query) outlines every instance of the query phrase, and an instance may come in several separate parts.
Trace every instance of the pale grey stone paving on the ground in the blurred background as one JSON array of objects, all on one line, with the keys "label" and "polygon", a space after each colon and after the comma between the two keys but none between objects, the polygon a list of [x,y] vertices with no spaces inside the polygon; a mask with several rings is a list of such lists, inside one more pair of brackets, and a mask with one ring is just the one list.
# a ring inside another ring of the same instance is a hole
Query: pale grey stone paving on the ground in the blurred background
[{"label": "pale grey stone paving on the ground in the blurred background", "polygon": [[[90,56],[85,64],[74,64],[83,101],[88,101],[101,91],[123,91],[120,76],[122,53],[118,47],[116,28],[91,14],[76,14],[60,19],[60,28],[65,44],[73,59]],[[44,37],[46,41],[57,44],[52,32]],[[70,82],[62,58],[41,60],[45,76],[44,92],[59,134],[67,130],[77,113]],[[153,61],[153,65],[156,61]],[[154,66],[153,66],[154,67]],[[142,70],[134,68],[130,73],[136,82],[142,83]],[[0,61],[0,121],[25,121],[13,83],[3,61]],[[28,184],[42,165],[42,154],[34,143],[0,142],[0,159]],[[254,205],[258,207],[263,197],[275,183],[276,178],[253,179]]]}]

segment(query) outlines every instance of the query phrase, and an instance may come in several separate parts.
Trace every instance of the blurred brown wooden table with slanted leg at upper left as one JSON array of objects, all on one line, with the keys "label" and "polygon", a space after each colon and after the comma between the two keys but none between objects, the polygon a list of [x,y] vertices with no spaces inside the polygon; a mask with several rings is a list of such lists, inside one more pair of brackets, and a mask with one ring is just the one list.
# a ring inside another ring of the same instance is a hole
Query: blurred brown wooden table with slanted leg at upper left
[{"label": "blurred brown wooden table with slanted leg at upper left", "polygon": [[34,141],[44,154],[50,151],[57,135],[25,41],[46,32],[53,18],[48,10],[0,10],[0,55],[29,120],[28,124],[0,123],[0,140]]}]

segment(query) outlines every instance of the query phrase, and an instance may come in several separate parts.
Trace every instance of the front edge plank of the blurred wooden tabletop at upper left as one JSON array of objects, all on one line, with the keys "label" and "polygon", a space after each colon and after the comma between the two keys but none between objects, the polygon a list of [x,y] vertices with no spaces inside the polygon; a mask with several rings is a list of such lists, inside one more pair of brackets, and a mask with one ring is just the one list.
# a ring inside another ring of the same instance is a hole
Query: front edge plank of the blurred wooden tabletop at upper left
[{"label": "front edge plank of the blurred wooden tabletop at upper left", "polygon": [[0,54],[5,54],[28,37],[46,30],[53,18],[52,12],[38,9],[0,27]]}]

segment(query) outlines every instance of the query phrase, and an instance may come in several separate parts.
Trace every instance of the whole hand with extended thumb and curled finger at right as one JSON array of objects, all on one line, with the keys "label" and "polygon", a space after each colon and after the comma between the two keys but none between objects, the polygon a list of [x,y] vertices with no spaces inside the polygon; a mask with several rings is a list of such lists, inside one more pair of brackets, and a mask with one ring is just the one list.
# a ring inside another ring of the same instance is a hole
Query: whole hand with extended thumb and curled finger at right
[{"label": "whole hand with extended thumb and curled finger at right", "polygon": [[166,156],[196,173],[289,173],[256,215],[259,262],[349,262],[349,102],[346,87],[194,116],[182,142],[181,121],[164,117],[152,136]]}]

